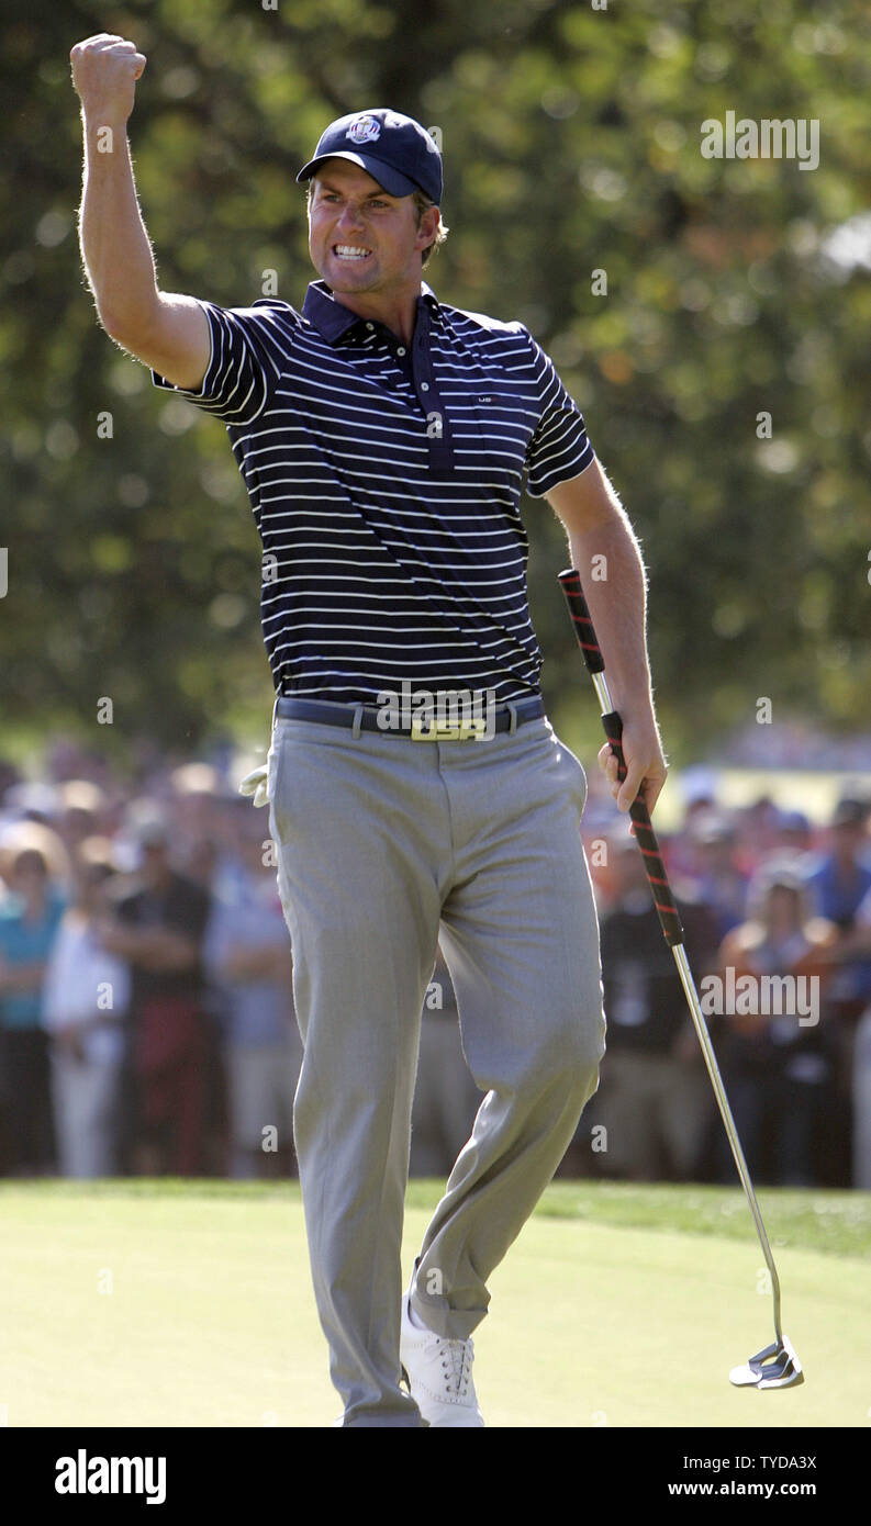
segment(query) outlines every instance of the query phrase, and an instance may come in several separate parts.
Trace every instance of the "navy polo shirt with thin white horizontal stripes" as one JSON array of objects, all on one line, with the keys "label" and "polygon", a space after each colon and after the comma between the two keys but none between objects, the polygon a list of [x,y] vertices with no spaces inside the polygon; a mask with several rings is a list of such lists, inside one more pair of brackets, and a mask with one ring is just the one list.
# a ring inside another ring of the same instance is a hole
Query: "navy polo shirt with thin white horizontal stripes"
[{"label": "navy polo shirt with thin white horizontal stripes", "polygon": [[423,282],[409,346],[323,281],[302,313],[201,302],[200,391],[221,418],[262,542],[261,615],[278,693],[540,693],[520,494],[593,459],[584,420],[520,322]]}]

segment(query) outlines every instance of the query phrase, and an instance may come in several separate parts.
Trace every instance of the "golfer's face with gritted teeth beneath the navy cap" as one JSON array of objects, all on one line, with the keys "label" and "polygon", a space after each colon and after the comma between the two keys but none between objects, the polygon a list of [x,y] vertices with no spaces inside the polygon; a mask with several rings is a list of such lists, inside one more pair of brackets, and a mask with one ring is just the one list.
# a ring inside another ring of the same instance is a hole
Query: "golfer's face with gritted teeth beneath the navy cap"
[{"label": "golfer's face with gritted teeth beneath the navy cap", "polygon": [[435,209],[418,227],[410,195],[387,195],[346,159],[329,159],[313,182],[308,249],[333,291],[386,291],[419,281],[419,255],[435,238]]}]

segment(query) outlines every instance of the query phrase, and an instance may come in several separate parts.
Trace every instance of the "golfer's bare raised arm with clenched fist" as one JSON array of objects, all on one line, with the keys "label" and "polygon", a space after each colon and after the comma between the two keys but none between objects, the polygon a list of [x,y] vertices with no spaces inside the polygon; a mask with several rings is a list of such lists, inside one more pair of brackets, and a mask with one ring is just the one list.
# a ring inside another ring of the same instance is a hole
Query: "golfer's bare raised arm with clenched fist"
[{"label": "golfer's bare raised arm with clenched fist", "polygon": [[211,357],[209,320],[191,296],[157,288],[133,179],[127,122],[145,55],[98,32],[70,52],[84,137],[79,247],[107,334],[175,386],[197,391]]}]

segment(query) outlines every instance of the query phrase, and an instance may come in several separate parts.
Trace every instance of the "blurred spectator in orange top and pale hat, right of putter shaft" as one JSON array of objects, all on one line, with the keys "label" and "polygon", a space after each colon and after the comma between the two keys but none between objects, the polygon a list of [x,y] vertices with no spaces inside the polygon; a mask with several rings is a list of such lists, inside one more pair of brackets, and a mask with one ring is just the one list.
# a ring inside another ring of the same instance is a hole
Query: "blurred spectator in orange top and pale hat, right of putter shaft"
[{"label": "blurred spectator in orange top and pale hat, right of putter shaft", "polygon": [[[818,1183],[815,1144],[831,1082],[825,1024],[819,1006],[808,1013],[786,1001],[786,1010],[775,1012],[769,1001],[766,1012],[761,977],[816,977],[822,993],[837,932],[812,916],[807,881],[792,858],[772,858],[760,867],[749,913],[749,920],[723,940],[720,974],[728,983],[732,969],[735,989],[746,975],[754,977],[760,1010],[728,1013],[723,1079],[750,1173],[775,1186],[810,1187]],[[725,1138],[722,1170],[731,1180]]]}]

